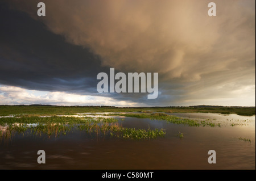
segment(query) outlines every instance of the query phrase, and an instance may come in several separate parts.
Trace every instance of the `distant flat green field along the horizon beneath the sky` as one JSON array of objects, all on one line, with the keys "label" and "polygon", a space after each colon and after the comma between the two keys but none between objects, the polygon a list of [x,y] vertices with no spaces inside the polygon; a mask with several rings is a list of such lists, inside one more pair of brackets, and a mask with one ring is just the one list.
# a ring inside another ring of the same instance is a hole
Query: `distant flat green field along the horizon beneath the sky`
[{"label": "distant flat green field along the horizon beneath the sky", "polygon": [[189,106],[189,107],[108,107],[108,106],[0,106],[0,116],[31,115],[74,115],[96,112],[203,112],[253,116],[255,107]]}]

